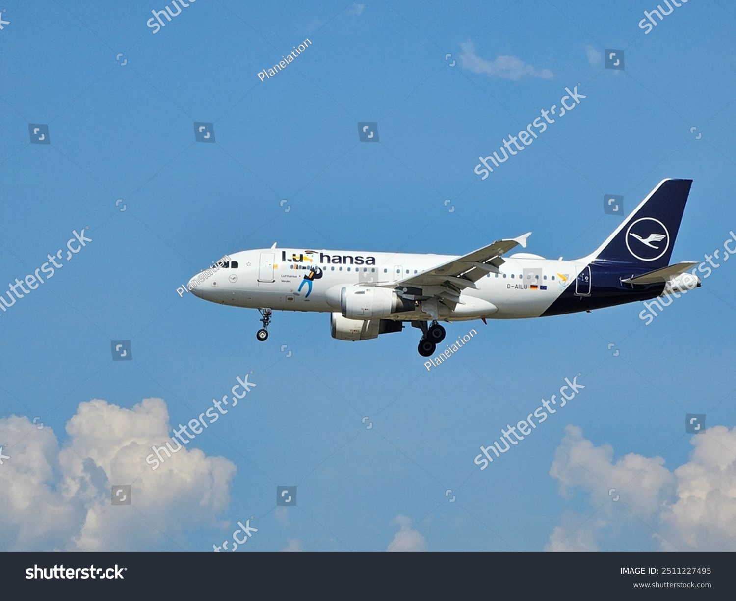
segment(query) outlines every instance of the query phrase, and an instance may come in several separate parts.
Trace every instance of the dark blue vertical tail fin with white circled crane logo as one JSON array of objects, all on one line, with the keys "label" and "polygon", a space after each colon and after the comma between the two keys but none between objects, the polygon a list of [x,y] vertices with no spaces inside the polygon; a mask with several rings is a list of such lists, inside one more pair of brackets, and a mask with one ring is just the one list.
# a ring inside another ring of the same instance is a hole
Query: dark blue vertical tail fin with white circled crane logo
[{"label": "dark blue vertical tail fin with white circled crane logo", "polygon": [[692,184],[692,179],[663,179],[589,258],[648,269],[668,266]]}]

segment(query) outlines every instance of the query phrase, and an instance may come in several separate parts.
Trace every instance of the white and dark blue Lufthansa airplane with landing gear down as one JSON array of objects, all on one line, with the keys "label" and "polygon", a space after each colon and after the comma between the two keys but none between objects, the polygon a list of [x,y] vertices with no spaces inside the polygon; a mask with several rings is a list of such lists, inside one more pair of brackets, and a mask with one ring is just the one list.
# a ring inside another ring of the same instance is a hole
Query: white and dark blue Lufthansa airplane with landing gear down
[{"label": "white and dark blue Lufthansa airplane with landing gear down", "polygon": [[[273,310],[330,313],[344,341],[421,330],[418,351],[434,355],[440,321],[524,319],[590,312],[701,286],[698,263],[669,265],[692,179],[663,179],[595,251],[575,260],[526,249],[531,232],[467,255],[277,248],[226,255],[188,282],[188,291],[261,313],[259,341]],[[692,269],[693,273],[688,271]]]}]

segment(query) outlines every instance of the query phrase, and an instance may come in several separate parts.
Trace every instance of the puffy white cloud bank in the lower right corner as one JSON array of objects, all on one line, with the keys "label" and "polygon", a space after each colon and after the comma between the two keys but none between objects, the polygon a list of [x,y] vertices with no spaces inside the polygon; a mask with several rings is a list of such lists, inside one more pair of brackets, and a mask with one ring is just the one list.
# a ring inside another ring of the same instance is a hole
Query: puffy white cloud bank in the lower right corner
[{"label": "puffy white cloud bank in the lower right corner", "polygon": [[[546,550],[594,550],[605,528],[654,529],[660,550],[722,550],[736,537],[736,427],[693,435],[690,460],[673,472],[661,457],[629,453],[613,461],[608,445],[593,446],[582,430],[567,426],[550,474],[562,494],[573,488],[590,500],[592,517],[566,513]],[[615,488],[613,494],[609,490]],[[624,511],[616,502],[620,495]],[[596,511],[597,510],[597,511]],[[731,549],[732,550],[732,549]]]}]

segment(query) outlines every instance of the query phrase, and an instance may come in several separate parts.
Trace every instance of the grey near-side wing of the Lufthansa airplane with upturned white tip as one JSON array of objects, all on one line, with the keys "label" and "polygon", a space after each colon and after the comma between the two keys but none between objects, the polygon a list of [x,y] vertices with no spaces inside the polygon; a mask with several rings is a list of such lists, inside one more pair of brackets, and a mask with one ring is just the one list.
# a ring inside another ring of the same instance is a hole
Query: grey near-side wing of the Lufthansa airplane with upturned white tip
[{"label": "grey near-side wing of the Lufthansa airplane with upturned white tip", "polygon": [[477,288],[475,282],[481,277],[489,272],[498,273],[498,268],[506,262],[501,255],[519,245],[526,248],[526,240],[530,235],[531,232],[526,232],[518,238],[497,240],[420,274],[391,282],[390,285],[403,288],[405,291],[399,294],[406,299],[421,300],[422,308],[432,319],[437,319],[439,303],[454,310],[461,303],[460,294],[464,288]]}]

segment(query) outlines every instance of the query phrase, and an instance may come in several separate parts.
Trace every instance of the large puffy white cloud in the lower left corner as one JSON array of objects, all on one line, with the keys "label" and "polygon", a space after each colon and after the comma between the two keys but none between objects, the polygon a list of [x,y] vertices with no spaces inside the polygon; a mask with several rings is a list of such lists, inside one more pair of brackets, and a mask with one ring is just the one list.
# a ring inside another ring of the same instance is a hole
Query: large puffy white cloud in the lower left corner
[{"label": "large puffy white cloud in the lower left corner", "polygon": [[[25,417],[0,419],[7,441],[0,466],[0,550],[146,550],[177,548],[184,530],[216,524],[230,502],[236,467],[199,449],[182,449],[152,471],[152,444],[169,438],[161,399],[132,409],[83,402],[54,431]],[[111,486],[132,485],[131,505],[111,505]]]}]

